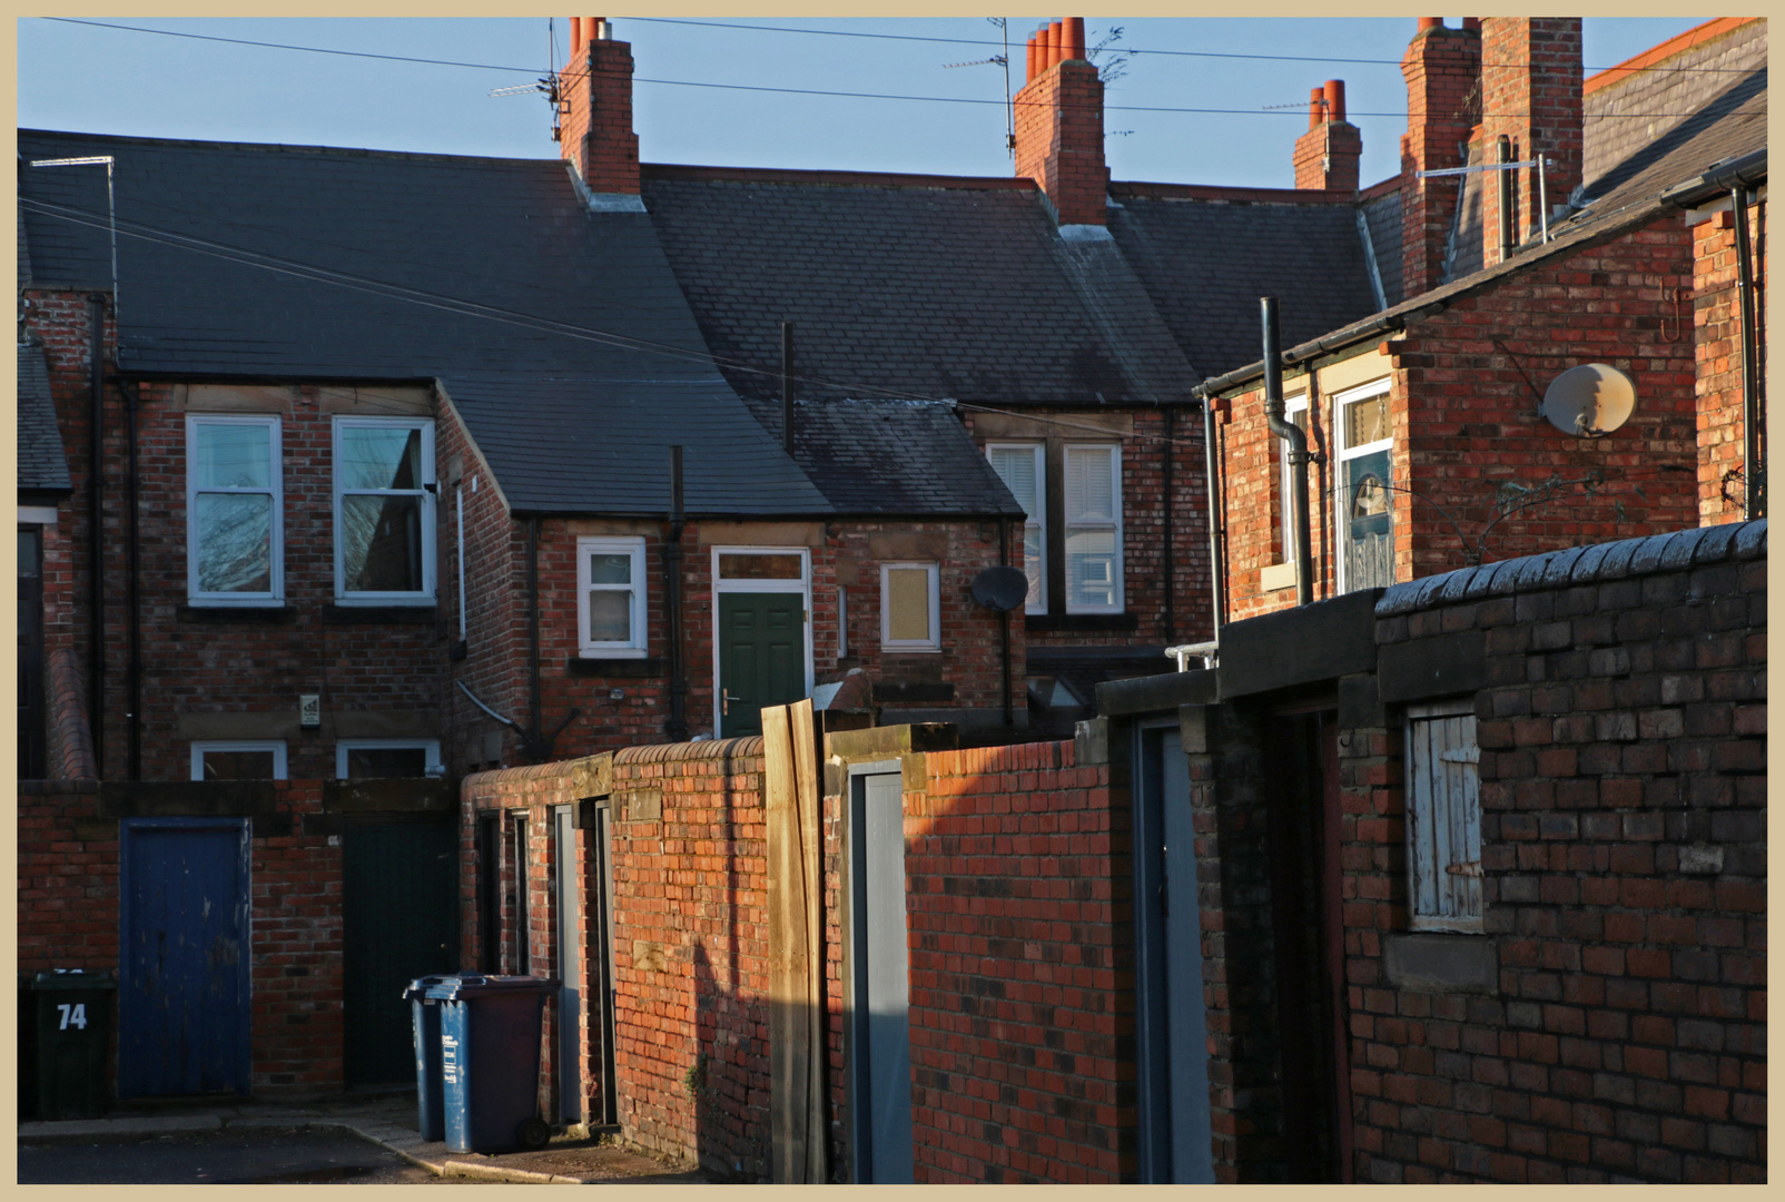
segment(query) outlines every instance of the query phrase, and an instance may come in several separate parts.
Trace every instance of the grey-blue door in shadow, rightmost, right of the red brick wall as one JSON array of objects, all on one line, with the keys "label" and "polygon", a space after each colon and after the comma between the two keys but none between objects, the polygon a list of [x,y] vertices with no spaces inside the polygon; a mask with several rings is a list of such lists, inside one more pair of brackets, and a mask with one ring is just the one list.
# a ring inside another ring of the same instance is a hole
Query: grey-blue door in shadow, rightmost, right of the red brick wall
[{"label": "grey-blue door in shadow, rightmost, right of the red brick wall", "polygon": [[1139,732],[1141,1179],[1212,1182],[1208,1029],[1191,779],[1176,727]]}]

